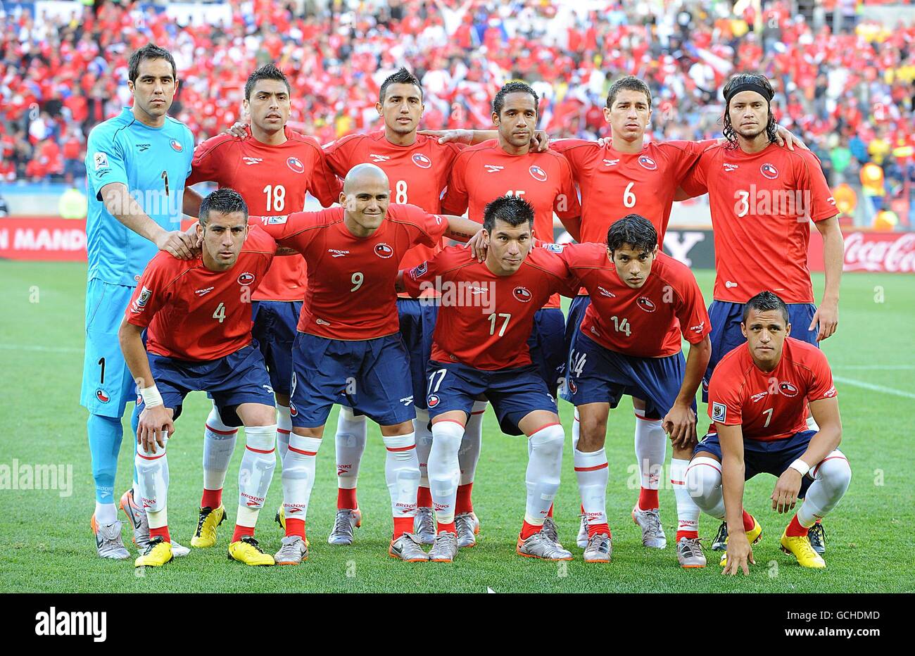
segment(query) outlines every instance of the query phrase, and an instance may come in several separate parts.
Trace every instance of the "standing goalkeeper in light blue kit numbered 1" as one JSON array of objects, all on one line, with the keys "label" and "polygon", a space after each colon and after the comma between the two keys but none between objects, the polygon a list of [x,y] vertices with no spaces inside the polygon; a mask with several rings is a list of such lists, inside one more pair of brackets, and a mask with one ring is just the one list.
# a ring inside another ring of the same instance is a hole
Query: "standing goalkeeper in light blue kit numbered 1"
[{"label": "standing goalkeeper in light blue kit numbered 1", "polygon": [[[130,556],[113,494],[124,437],[121,417],[126,403],[136,399],[117,331],[146,263],[158,251],[182,259],[191,256],[194,244],[180,231],[185,194],[188,208],[199,207],[198,195],[184,188],[194,137],[187,125],[167,116],[178,89],[175,59],[147,44],[131,56],[128,79],[133,106],[96,125],[86,148],[89,275],[80,403],[89,410],[95,480],[92,532],[98,554],[116,559]],[[142,549],[149,531],[145,513],[134,505],[133,490],[124,493],[121,507]],[[176,555],[186,553],[185,547],[175,550]]]}]

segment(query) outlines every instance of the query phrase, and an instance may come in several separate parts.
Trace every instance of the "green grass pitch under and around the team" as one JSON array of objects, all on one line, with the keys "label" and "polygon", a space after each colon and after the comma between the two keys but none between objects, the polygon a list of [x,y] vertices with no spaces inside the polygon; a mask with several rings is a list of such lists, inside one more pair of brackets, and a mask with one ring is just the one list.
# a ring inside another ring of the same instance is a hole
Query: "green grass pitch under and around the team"
[{"label": "green grass pitch under and around the team", "polygon": [[[699,272],[706,298],[712,274]],[[72,465],[72,494],[58,490],[0,489],[0,590],[20,592],[893,592],[915,591],[915,544],[910,529],[915,503],[910,474],[915,410],[915,278],[892,274],[849,274],[843,280],[839,332],[824,344],[836,376],[909,394],[893,395],[838,382],[845,426],[843,451],[854,478],[845,499],[826,520],[829,549],[825,571],[802,570],[778,550],[787,518],[768,509],[775,479],[759,476],[747,486],[746,505],[759,517],[763,539],[748,578],[726,579],[710,557],[705,570],[684,571],[673,545],[644,549],[629,511],[637,496],[632,427],[624,401],[611,414],[607,441],[610,462],[608,515],[613,530],[613,563],[587,566],[574,547],[578,492],[567,437],[563,484],[556,499],[561,539],[577,560],[551,564],[514,554],[524,506],[527,451],[517,437],[502,436],[486,415],[474,505],[482,522],[478,545],[452,565],[408,565],[386,554],[391,530],[384,485],[384,449],[371,425],[361,468],[360,504],[365,522],[350,548],[326,543],[336,507],[333,432],[318,457],[318,481],[308,513],[312,551],[298,567],[253,568],[226,559],[231,521],[222,525],[217,546],[194,550],[158,571],[138,576],[132,562],[95,556],[89,518],[94,495],[86,411],[79,405],[85,265],[0,263],[0,465]],[[822,289],[822,277],[814,280]],[[36,299],[35,293],[38,293]],[[882,301],[880,295],[882,294]],[[38,300],[38,302],[33,302]],[[806,328],[806,327],[803,327]],[[881,367],[889,369],[881,370]],[[169,443],[169,515],[172,534],[189,543],[196,526],[201,487],[202,425],[210,403],[192,394]],[[562,403],[563,421],[571,408]],[[700,426],[705,428],[705,406]],[[125,419],[126,432],[129,424]],[[115,488],[130,485],[130,437],[121,449]],[[668,451],[669,454],[669,451]],[[242,449],[236,449],[226,481],[226,505],[237,498],[235,478]],[[669,456],[668,456],[669,457]],[[235,473],[233,473],[235,472]],[[272,522],[281,496],[279,469],[259,525],[267,550],[279,547]],[[668,537],[675,531],[673,492],[661,493]],[[700,534],[710,542],[717,522],[703,517]],[[129,539],[129,533],[124,530]],[[132,545],[131,545],[132,546]]]}]

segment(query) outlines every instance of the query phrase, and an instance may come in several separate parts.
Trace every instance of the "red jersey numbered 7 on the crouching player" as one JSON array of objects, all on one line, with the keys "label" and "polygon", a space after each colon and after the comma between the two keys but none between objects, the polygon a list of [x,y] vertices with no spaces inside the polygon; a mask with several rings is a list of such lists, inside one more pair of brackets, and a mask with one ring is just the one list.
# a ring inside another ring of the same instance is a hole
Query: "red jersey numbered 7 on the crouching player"
[{"label": "red jersey numbered 7 on the crouching player", "polygon": [[807,430],[807,403],[836,394],[833,372],[822,350],[786,338],[773,371],[753,362],[741,344],[718,362],[708,383],[708,416],[713,424],[740,425],[743,436],[763,442]]}]

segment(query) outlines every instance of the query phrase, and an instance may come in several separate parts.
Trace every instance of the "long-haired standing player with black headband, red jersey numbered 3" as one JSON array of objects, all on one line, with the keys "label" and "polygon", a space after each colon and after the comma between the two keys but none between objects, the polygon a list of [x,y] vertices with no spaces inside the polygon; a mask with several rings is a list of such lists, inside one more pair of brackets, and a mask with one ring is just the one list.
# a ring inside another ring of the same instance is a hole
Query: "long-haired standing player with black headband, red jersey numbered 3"
[{"label": "long-haired standing player with black headband, red jersey numbered 3", "polygon": [[[772,143],[769,81],[762,75],[736,75],[724,95],[727,144],[706,149],[682,182],[688,196],[708,192],[715,231],[715,291],[708,307],[712,360],[706,384],[718,360],[744,342],[743,306],[761,291],[785,301],[797,339],[815,345],[832,335],[845,252],[835,200],[819,160],[809,150],[792,152]],[[826,275],[819,309],[813,305],[807,268],[811,221],[823,235]],[[813,541],[824,551],[821,528],[813,532]],[[724,529],[722,524],[713,548],[723,548]]]}]

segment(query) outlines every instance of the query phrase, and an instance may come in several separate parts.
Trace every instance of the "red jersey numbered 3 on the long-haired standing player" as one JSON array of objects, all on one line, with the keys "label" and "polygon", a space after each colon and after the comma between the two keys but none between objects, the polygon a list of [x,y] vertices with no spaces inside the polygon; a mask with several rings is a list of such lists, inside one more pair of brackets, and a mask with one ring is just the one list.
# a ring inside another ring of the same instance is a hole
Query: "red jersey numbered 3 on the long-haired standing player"
[{"label": "red jersey numbered 3 on the long-haired standing player", "polygon": [[813,153],[770,144],[748,154],[713,145],[682,187],[692,196],[708,192],[717,300],[746,303],[768,290],[785,303],[813,303],[807,268],[810,220],[837,213]]}]

